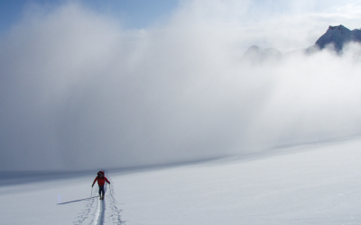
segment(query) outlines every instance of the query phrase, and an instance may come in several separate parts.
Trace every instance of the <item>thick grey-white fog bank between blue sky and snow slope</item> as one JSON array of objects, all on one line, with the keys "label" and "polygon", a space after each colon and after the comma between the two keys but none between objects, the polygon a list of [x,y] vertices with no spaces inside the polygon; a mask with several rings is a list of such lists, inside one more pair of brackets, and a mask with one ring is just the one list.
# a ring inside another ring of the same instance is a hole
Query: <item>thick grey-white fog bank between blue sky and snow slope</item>
[{"label": "thick grey-white fog bank between blue sky and snow slope", "polygon": [[[303,4],[302,4],[303,3]],[[156,165],[361,133],[361,47],[306,49],[360,7],[184,1],[143,30],[69,2],[32,5],[0,40],[0,170]],[[326,3],[325,3],[326,4]],[[290,13],[291,12],[291,13]]]}]

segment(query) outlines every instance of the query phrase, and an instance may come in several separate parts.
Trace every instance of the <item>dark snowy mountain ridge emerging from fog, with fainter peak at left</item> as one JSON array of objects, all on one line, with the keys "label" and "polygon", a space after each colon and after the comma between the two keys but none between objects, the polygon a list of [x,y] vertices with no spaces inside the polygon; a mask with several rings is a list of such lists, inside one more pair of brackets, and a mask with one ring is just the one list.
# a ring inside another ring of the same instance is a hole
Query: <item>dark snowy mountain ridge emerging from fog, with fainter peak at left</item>
[{"label": "dark snowy mountain ridge emerging from fog, with fainter peak at left", "polygon": [[[316,40],[315,44],[310,46],[307,49],[297,49],[292,50],[284,54],[284,56],[289,56],[294,53],[305,53],[311,54],[319,49],[325,49],[327,47],[334,48],[337,52],[342,50],[343,46],[348,42],[355,41],[361,42],[361,29],[349,30],[347,27],[342,24],[338,26],[329,26],[329,29]],[[278,49],[262,49],[258,46],[251,46],[247,49],[243,55],[243,58],[251,61],[264,61],[264,59],[270,58],[282,58],[282,53]]]}]

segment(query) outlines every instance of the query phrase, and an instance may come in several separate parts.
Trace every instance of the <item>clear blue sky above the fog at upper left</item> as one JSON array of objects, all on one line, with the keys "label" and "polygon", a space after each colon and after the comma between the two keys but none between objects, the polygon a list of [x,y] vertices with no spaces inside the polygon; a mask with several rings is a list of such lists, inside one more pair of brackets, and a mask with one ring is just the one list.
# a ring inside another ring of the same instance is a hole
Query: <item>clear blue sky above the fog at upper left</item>
[{"label": "clear blue sky above the fog at upper left", "polygon": [[[0,32],[8,31],[10,27],[21,20],[26,8],[31,4],[55,8],[69,1],[61,0],[3,0],[0,1]],[[177,7],[178,0],[79,0],[99,14],[116,17],[127,29],[142,29],[155,21],[166,18]]]}]

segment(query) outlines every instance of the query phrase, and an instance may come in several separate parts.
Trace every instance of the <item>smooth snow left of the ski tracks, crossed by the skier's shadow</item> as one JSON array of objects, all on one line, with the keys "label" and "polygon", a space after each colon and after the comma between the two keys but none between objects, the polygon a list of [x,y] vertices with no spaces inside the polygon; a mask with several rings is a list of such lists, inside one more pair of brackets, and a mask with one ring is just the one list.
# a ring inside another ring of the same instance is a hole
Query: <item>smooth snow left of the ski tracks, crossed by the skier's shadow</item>
[{"label": "smooth snow left of the ski tracks, crossed by the skier's shadow", "polygon": [[[72,224],[90,197],[90,177],[3,186],[2,224]],[[60,202],[70,202],[58,204]]]}]

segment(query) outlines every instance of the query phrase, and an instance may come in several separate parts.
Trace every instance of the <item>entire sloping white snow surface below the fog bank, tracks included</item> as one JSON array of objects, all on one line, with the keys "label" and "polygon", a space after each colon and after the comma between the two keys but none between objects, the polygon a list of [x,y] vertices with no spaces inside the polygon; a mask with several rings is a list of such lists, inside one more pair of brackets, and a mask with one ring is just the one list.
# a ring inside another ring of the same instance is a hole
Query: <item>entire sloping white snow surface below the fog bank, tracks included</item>
[{"label": "entire sloping white snow surface below the fog bank, tracks included", "polygon": [[[1,224],[361,224],[361,139],[0,187]],[[93,197],[91,197],[91,194]]]}]

